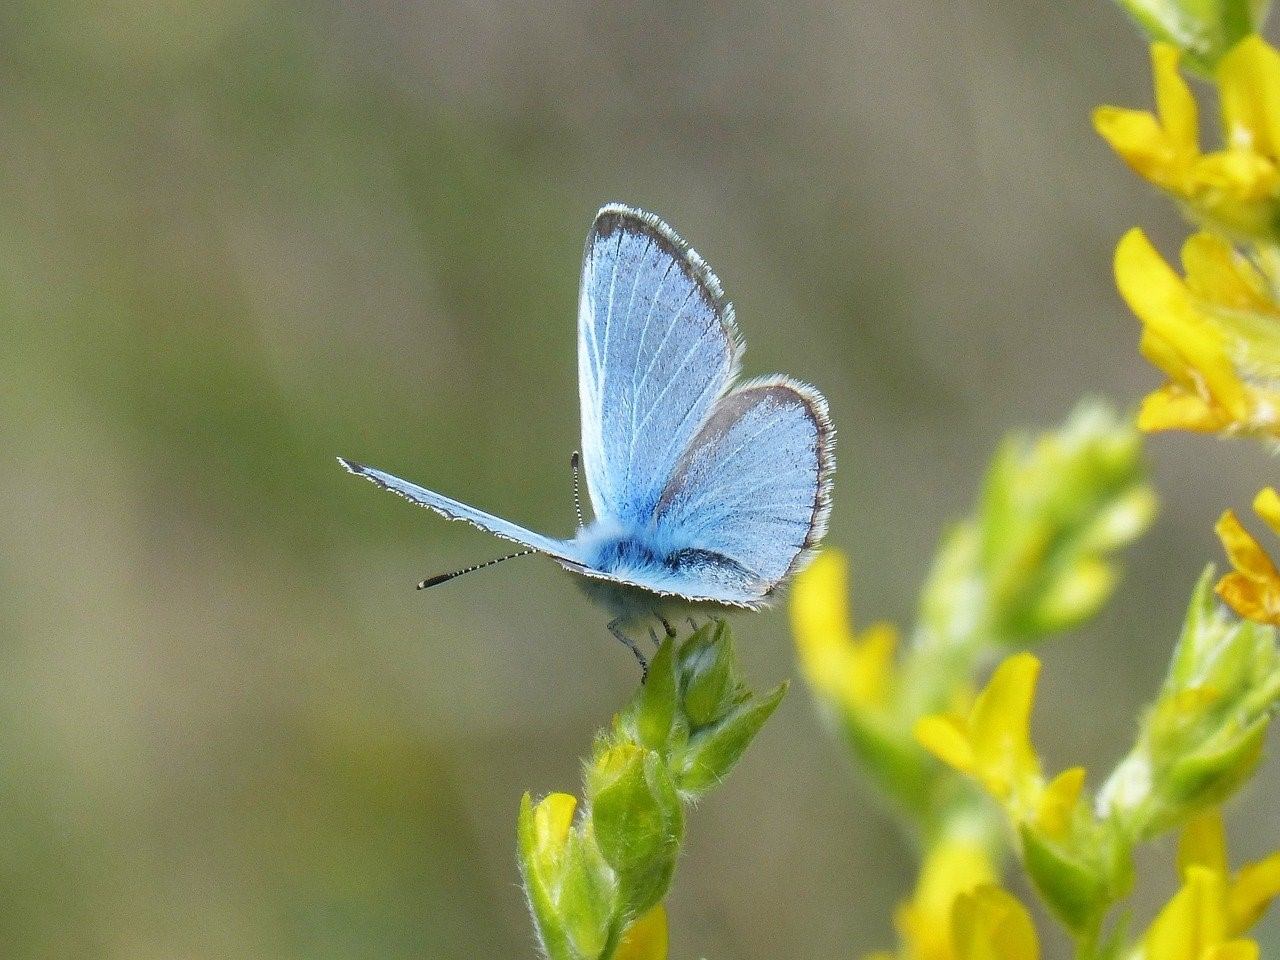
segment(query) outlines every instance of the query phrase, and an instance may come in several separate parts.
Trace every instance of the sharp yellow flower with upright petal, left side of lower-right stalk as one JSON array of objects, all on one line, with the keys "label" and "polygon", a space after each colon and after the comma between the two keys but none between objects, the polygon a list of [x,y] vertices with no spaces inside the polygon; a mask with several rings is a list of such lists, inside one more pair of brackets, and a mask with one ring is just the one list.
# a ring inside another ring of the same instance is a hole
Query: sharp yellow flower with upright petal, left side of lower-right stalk
[{"label": "sharp yellow flower with upright petal, left side of lower-right stalk", "polygon": [[1038,675],[1039,660],[1029,653],[1010,657],[968,713],[932,714],[915,724],[915,739],[929,753],[982,782],[1019,819],[1034,814],[1043,792],[1029,730]]}]

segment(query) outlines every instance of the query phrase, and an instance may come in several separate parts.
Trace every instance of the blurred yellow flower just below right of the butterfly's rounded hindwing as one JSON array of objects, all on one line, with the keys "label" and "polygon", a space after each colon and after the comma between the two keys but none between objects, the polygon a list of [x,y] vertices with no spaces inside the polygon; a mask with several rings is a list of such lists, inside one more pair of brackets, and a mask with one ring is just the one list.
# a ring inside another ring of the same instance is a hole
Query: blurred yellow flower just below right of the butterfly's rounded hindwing
[{"label": "blurred yellow flower just below right of the butterfly's rounded hindwing", "polygon": [[849,616],[849,561],[824,550],[791,593],[791,625],[800,667],[819,694],[854,709],[886,705],[893,682],[897,631],[874,623],[855,634]]}]

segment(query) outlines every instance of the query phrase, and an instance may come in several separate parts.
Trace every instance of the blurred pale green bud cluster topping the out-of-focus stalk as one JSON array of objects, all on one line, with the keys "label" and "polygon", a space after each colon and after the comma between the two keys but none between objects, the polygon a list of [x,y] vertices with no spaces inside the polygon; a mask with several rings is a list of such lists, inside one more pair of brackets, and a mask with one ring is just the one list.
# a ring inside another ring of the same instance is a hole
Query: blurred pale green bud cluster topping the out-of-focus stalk
[{"label": "blurred pale green bud cluster topping the out-of-focus stalk", "polygon": [[[973,649],[1029,646],[1096,614],[1115,589],[1112,554],[1155,513],[1140,435],[1105,406],[1084,403],[1056,430],[1007,439],[925,584],[915,648],[922,675],[942,680],[913,707],[938,709]],[[937,659],[952,652],[954,663]]]}]

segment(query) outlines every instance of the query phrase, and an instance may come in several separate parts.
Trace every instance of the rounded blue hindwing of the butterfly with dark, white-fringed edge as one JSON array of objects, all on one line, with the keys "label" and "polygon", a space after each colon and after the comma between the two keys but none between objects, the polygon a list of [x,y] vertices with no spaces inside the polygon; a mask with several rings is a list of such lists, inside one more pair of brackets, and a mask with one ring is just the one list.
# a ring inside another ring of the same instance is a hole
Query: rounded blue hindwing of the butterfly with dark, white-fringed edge
[{"label": "rounded blue hindwing of the butterfly with dark, white-fringed edge", "polygon": [[812,387],[773,378],[726,394],[682,452],[654,515],[687,589],[763,600],[826,531],[835,434]]}]

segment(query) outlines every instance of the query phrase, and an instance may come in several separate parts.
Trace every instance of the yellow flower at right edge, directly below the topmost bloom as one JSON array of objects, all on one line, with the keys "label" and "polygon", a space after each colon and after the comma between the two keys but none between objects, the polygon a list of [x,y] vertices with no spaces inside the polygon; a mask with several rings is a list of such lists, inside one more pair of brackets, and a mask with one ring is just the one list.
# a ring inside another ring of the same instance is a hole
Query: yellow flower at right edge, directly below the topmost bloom
[{"label": "yellow flower at right edge, directly below the topmost bloom", "polygon": [[1169,376],[1138,425],[1280,436],[1280,306],[1212,234],[1188,239],[1183,264],[1185,279],[1138,229],[1116,247],[1116,285],[1143,324],[1142,353]]}]

